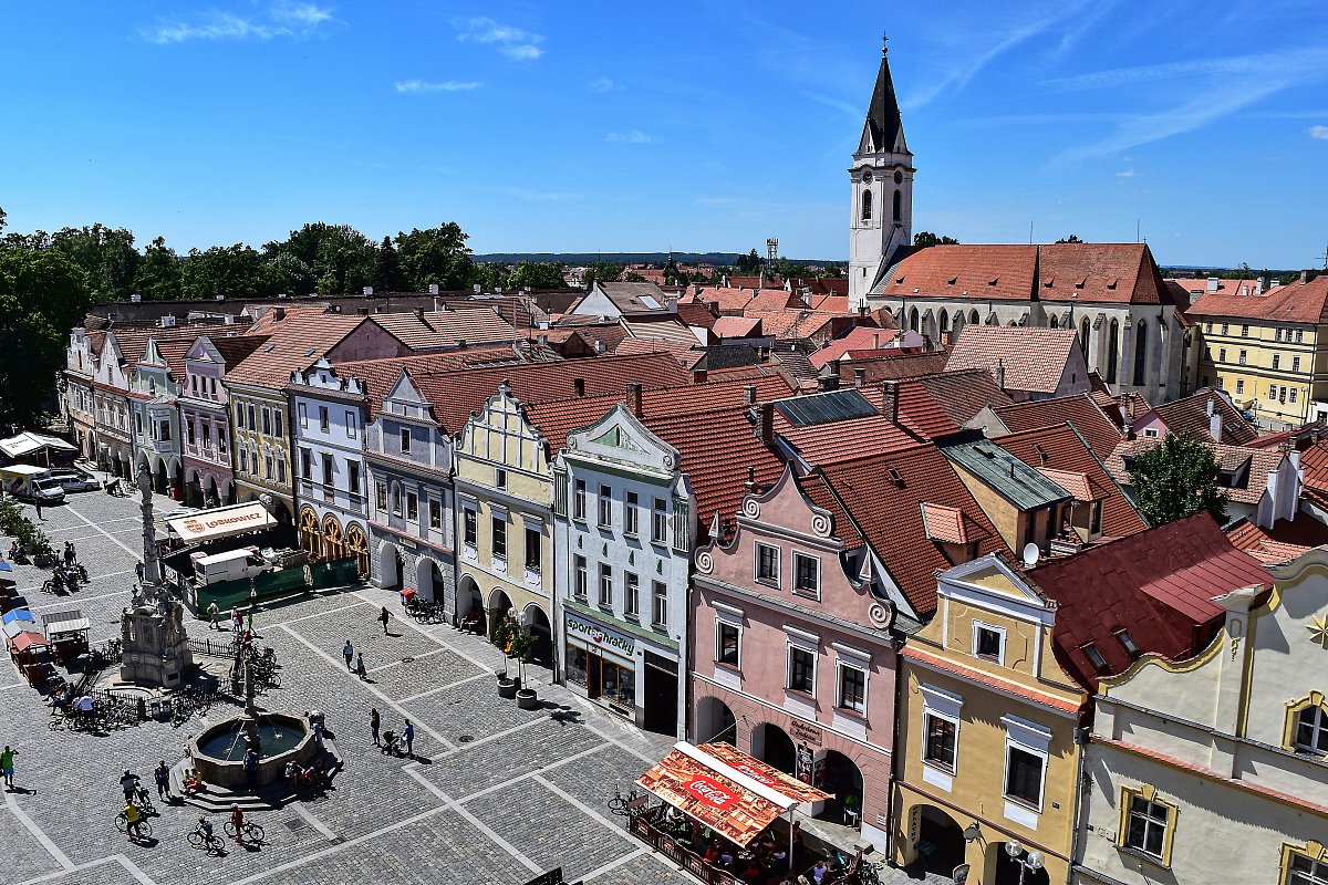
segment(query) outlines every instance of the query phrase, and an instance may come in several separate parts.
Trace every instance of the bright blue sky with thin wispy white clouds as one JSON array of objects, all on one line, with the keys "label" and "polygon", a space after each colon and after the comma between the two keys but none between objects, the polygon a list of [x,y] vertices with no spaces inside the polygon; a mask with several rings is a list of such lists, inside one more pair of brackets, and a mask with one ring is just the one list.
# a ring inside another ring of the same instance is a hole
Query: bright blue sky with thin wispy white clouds
[{"label": "bright blue sky with thin wispy white clouds", "polygon": [[458,222],[477,252],[847,255],[880,53],[915,230],[1070,232],[1162,263],[1316,267],[1328,4],[7,4],[16,231],[259,245]]}]

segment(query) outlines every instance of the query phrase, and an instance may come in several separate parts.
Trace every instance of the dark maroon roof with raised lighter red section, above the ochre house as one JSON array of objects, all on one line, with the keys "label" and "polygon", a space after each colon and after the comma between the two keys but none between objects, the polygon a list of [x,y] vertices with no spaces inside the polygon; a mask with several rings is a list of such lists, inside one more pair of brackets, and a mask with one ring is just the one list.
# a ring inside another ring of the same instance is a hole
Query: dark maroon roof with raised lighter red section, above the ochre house
[{"label": "dark maroon roof with raised lighter red section, above the ochre house", "polygon": [[[1222,626],[1224,610],[1212,597],[1271,584],[1259,561],[1232,547],[1207,511],[1046,560],[1029,577],[1060,604],[1056,657],[1089,691],[1102,675],[1125,673],[1134,662],[1120,630],[1143,651],[1187,658]],[[1084,653],[1088,644],[1106,661],[1106,673]]]}]

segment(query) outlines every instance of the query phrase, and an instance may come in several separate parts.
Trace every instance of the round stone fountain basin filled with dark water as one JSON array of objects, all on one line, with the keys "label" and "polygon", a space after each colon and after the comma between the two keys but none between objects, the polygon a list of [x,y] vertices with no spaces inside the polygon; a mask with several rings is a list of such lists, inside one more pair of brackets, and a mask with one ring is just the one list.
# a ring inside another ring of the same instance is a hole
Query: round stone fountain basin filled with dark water
[{"label": "round stone fountain basin filled with dark water", "polygon": [[[313,739],[308,720],[284,713],[258,716],[258,785],[282,779],[287,762],[308,764],[323,747]],[[244,788],[244,719],[234,718],[211,726],[189,742],[194,767],[205,784]]]}]

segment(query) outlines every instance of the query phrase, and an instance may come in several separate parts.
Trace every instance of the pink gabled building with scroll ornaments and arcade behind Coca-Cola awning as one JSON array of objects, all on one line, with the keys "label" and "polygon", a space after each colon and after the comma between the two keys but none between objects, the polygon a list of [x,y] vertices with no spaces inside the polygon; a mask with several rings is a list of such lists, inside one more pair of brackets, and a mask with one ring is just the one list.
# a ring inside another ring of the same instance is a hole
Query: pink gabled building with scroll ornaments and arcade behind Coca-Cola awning
[{"label": "pink gabled building with scroll ornaments and arcade behind Coca-Cola awning", "polygon": [[899,637],[865,555],[817,475],[744,499],[728,541],[696,555],[691,736],[834,793],[815,816],[884,849]]}]

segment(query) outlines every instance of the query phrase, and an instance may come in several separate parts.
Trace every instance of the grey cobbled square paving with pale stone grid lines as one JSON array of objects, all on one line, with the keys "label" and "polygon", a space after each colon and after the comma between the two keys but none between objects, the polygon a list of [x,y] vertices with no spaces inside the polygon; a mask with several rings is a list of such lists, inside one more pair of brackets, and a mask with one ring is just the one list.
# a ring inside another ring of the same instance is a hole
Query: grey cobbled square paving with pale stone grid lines
[{"label": "grey cobbled square paving with pale stone grid lines", "polygon": [[[157,506],[175,507],[165,498]],[[52,543],[73,540],[93,582],[57,600],[35,589],[46,572],[20,565],[20,590],[39,612],[81,608],[93,641],[116,636],[141,547],[137,503],[86,492],[44,515]],[[390,636],[374,620],[382,605],[394,613]],[[623,819],[604,805],[615,787],[625,789],[667,752],[669,738],[639,732],[550,686],[538,667],[527,667],[527,681],[542,709],[519,710],[497,695],[502,655],[493,646],[448,626],[417,626],[402,617],[396,593],[305,596],[260,610],[255,626],[283,665],[282,686],[260,706],[324,711],[347,762],[333,788],[258,815],[270,840],[263,847],[231,845],[222,857],[191,849],[185,833],[198,812],[165,804],[151,819],[155,841],[131,844],[113,825],[124,770],[150,780],[158,760],[179,758],[189,734],[238,707],[215,705],[179,728],[151,722],[106,735],[49,731],[39,695],[0,662],[0,743],[19,750],[20,787],[0,808],[0,884],[513,885],[558,865],[572,881],[691,881],[627,837]],[[189,630],[210,633],[205,621]],[[348,638],[364,653],[368,681],[345,670]],[[414,759],[373,746],[371,707],[384,728],[414,722]]]}]

